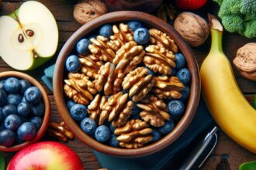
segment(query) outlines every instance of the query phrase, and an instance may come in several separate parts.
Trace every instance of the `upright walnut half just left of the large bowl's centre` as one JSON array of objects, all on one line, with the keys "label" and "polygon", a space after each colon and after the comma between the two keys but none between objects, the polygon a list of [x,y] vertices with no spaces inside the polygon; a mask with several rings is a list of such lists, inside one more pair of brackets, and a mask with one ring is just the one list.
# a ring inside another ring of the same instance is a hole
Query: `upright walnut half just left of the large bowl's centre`
[{"label": "upright walnut half just left of the large bowl's centre", "polygon": [[116,69],[112,63],[105,63],[95,76],[95,87],[98,91],[101,91],[104,87],[104,93],[106,95],[115,94],[121,88],[123,77],[122,70]]}]

